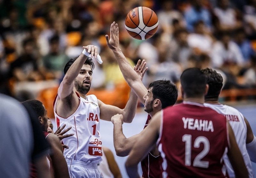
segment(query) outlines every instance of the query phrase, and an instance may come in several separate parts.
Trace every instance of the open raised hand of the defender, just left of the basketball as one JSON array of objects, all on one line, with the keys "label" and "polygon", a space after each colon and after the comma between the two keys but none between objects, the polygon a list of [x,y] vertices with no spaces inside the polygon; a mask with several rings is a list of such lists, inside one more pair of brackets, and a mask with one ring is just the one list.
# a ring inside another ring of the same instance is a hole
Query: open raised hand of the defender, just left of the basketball
[{"label": "open raised hand of the defender, just left of the basketball", "polygon": [[110,36],[105,35],[108,48],[111,50],[119,48],[119,29],[116,22],[113,22],[110,26]]}]

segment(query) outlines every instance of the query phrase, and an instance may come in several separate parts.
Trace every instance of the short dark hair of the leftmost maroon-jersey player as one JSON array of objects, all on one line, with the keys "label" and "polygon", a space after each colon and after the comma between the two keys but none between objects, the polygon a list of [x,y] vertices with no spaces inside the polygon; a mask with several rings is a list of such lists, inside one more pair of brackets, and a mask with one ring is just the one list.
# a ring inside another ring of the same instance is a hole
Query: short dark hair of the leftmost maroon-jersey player
[{"label": "short dark hair of the leftmost maroon-jersey player", "polygon": [[32,112],[35,112],[37,118],[44,116],[45,108],[41,101],[36,99],[30,99],[22,102],[22,104],[27,106],[26,108],[29,108],[30,110],[32,110]]}]

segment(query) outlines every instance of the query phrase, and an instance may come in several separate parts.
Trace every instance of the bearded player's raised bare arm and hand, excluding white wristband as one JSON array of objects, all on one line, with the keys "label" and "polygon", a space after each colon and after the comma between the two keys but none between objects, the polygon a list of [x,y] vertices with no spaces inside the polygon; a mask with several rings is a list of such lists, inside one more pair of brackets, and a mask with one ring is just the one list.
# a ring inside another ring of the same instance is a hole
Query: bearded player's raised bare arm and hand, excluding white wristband
[{"label": "bearded player's raised bare arm and hand, excluding white wristband", "polygon": [[[97,56],[98,48],[93,45],[88,45],[83,47],[91,55]],[[75,62],[70,66],[67,73],[65,74],[63,80],[60,83],[58,89],[58,97],[56,104],[56,112],[64,118],[67,118],[70,114],[75,112],[79,105],[79,98],[76,96],[74,91],[74,80],[80,73],[87,56],[83,53],[75,60]]]}]

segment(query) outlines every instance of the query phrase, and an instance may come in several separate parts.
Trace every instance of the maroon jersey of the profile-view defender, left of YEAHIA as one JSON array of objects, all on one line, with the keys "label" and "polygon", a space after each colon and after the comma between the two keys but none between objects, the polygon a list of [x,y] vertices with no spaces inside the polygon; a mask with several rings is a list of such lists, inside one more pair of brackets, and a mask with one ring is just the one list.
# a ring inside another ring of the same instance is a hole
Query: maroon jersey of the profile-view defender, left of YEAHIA
[{"label": "maroon jersey of the profile-view defender, left of YEAHIA", "polygon": [[[144,128],[146,128],[151,120],[151,116],[148,114],[148,119],[146,121],[146,124]],[[142,177],[144,178],[159,178],[161,176],[161,170],[160,170],[160,164],[162,158],[161,156],[153,156],[150,152],[148,155],[143,159],[141,164],[142,169]]]}]

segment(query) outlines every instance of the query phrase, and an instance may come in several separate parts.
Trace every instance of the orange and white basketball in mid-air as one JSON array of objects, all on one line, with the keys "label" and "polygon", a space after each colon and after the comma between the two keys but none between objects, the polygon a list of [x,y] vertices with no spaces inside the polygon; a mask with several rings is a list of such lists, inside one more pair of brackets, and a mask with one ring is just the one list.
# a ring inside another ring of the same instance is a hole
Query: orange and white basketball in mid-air
[{"label": "orange and white basketball in mid-air", "polygon": [[125,28],[136,39],[145,40],[152,37],[158,27],[156,13],[148,7],[136,7],[126,16]]}]

